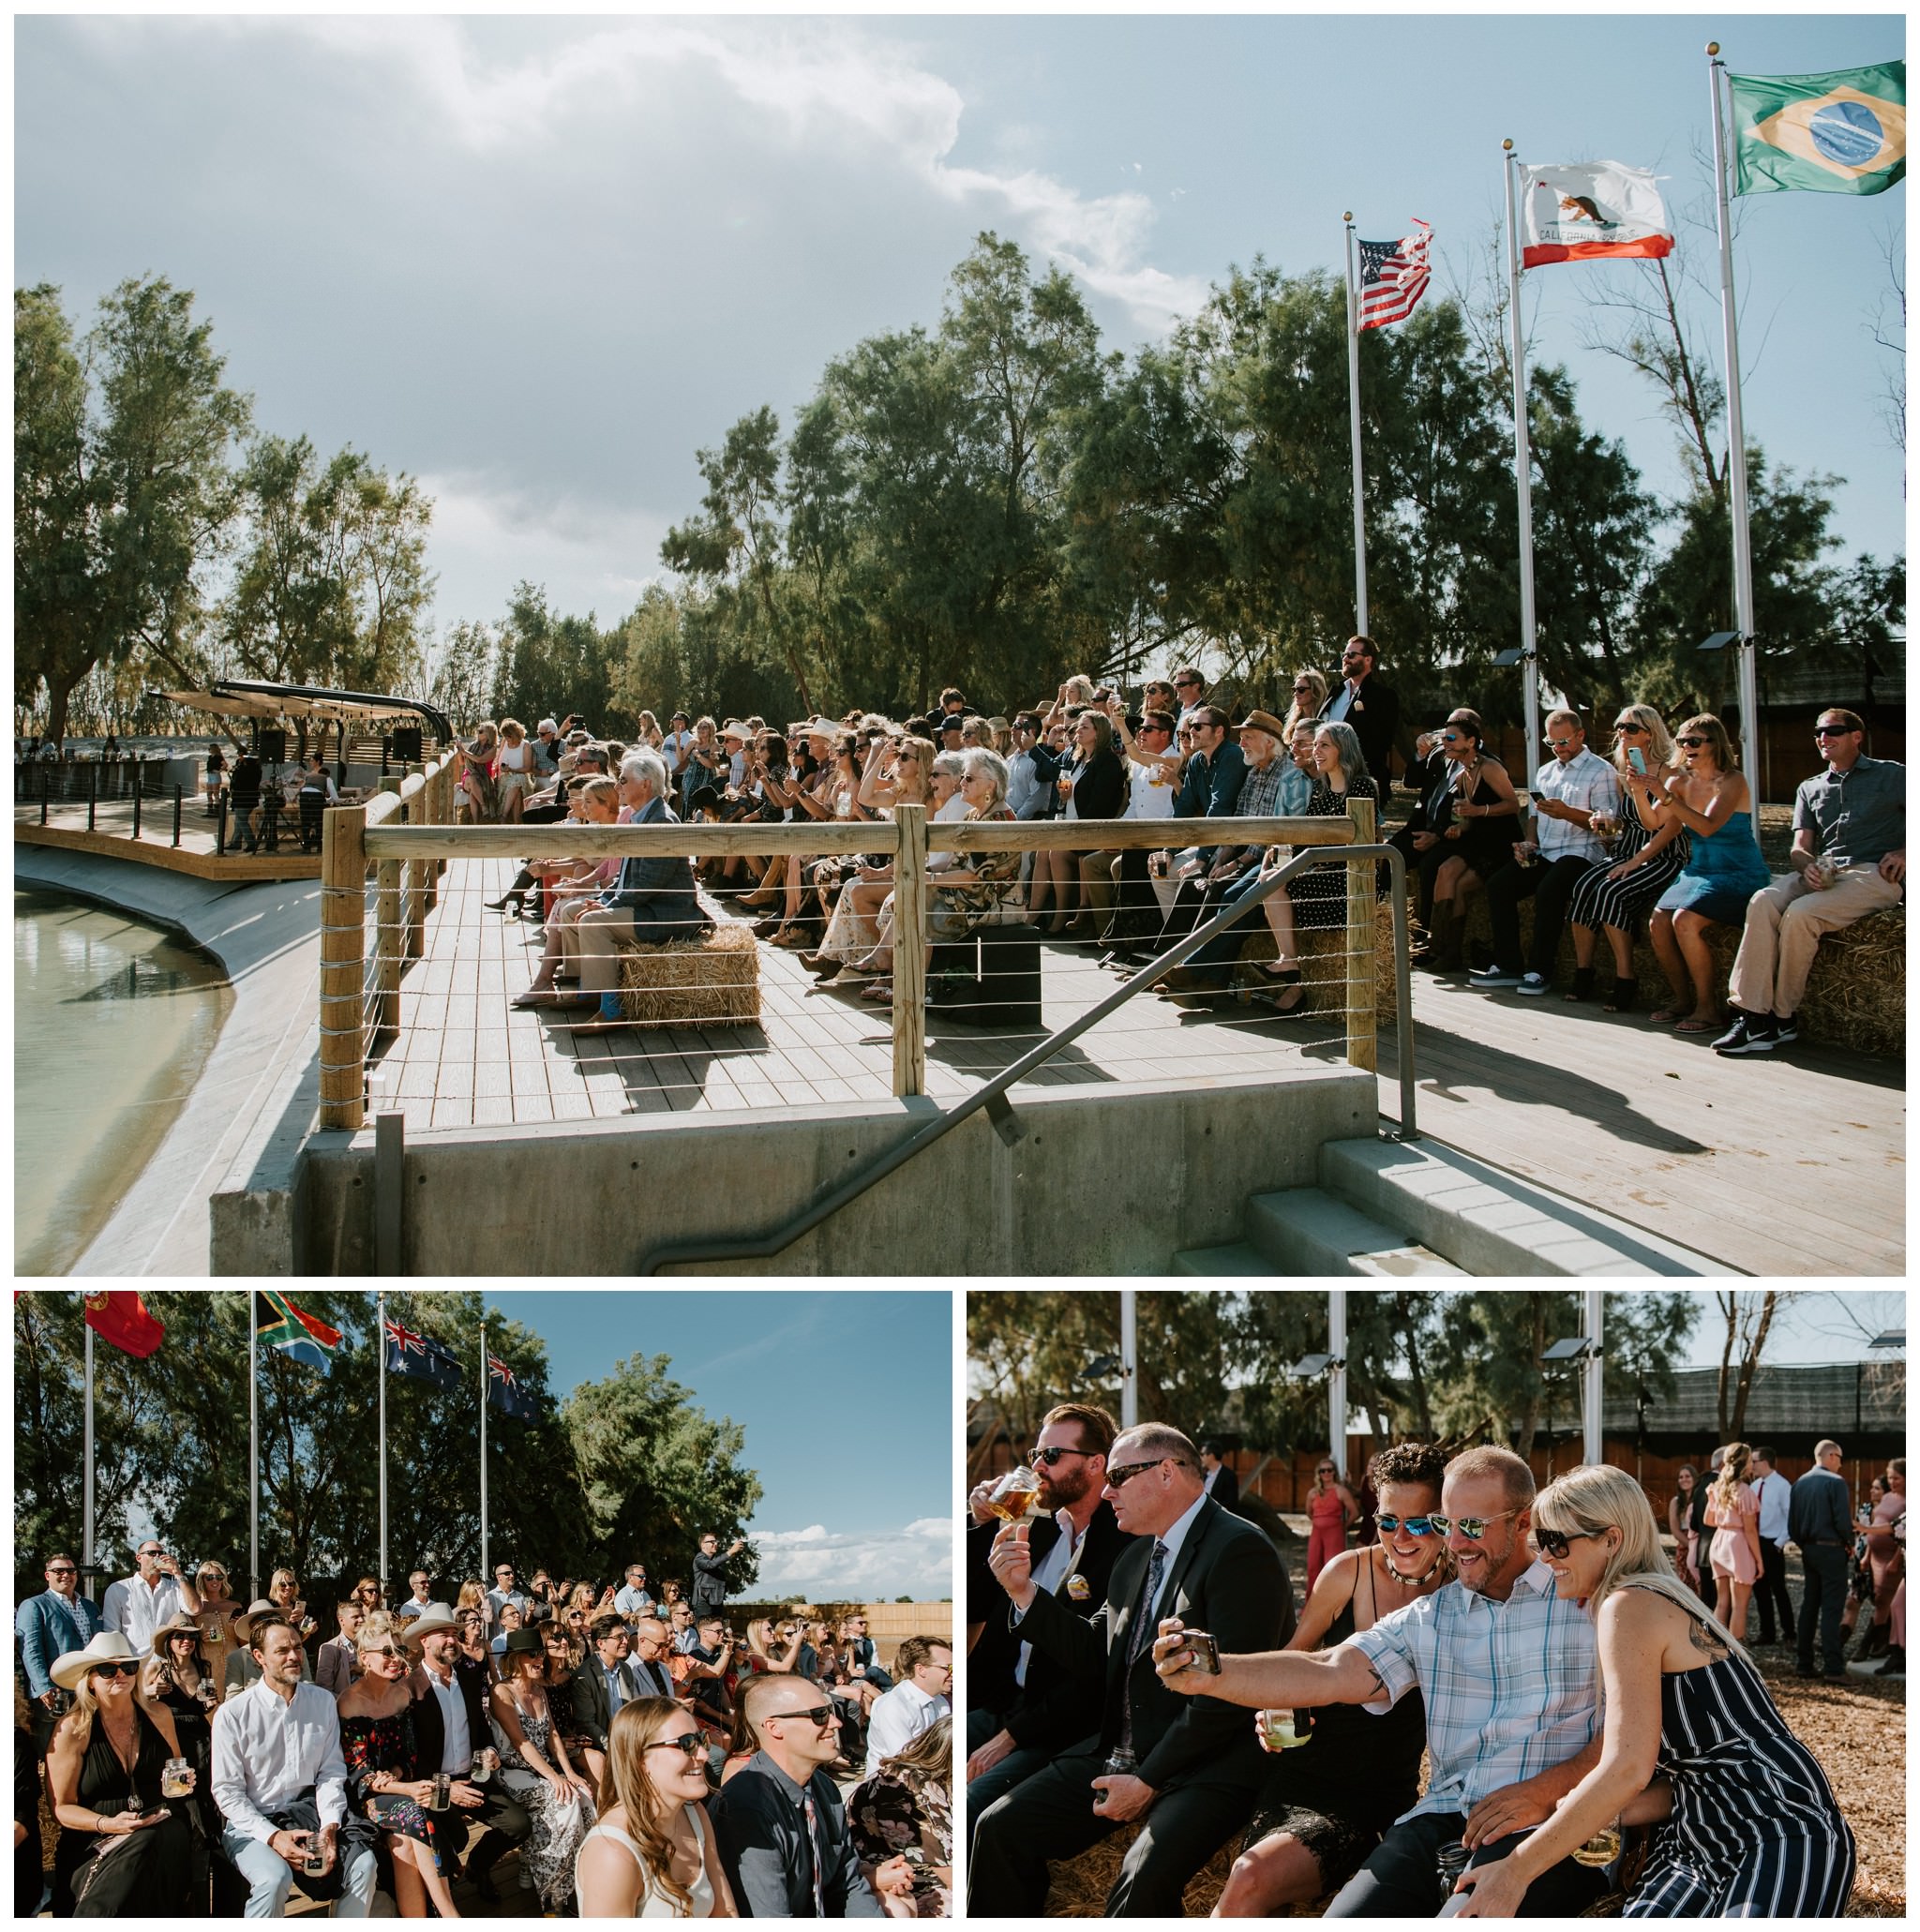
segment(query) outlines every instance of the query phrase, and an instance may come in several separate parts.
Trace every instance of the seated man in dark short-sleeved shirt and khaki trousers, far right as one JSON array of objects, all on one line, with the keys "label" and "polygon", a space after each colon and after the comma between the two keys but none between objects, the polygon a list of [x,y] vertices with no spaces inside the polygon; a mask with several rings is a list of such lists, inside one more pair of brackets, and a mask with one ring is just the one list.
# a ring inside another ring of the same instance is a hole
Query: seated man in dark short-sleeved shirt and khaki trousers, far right
[{"label": "seated man in dark short-sleeved shirt and khaki trousers, far right", "polygon": [[1827,933],[1897,906],[1906,883],[1906,767],[1862,757],[1852,711],[1821,711],[1814,742],[1827,761],[1793,800],[1785,879],[1746,902],[1746,931],[1727,981],[1738,1009],[1717,1053],[1771,1053],[1798,1037],[1794,1014]]}]

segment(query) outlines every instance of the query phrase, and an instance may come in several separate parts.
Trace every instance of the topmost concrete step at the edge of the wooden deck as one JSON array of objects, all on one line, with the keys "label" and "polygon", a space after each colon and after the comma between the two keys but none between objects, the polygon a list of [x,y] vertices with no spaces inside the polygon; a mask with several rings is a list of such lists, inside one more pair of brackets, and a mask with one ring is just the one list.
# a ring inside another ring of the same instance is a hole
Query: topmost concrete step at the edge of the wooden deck
[{"label": "topmost concrete step at the edge of the wooden deck", "polygon": [[1433,1140],[1323,1142],[1319,1182],[1362,1217],[1397,1229],[1395,1240],[1420,1242],[1468,1275],[1735,1273]]}]

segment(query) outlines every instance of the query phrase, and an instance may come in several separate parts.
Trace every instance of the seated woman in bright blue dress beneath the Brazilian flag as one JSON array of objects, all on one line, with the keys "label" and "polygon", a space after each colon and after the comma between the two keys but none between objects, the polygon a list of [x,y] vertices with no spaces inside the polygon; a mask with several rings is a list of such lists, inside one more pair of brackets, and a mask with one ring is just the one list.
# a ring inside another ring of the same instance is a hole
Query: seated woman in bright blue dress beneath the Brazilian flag
[{"label": "seated woman in bright blue dress beneath the Brazilian flag", "polygon": [[1657,833],[1679,819],[1692,835],[1686,864],[1653,906],[1648,937],[1667,976],[1673,1001],[1653,1026],[1677,1034],[1711,1034],[1721,1024],[1713,997],[1713,952],[1708,927],[1744,925],[1746,902],[1773,875],[1754,837],[1754,800],[1733,759],[1727,726],[1717,717],[1688,719],[1675,734],[1677,771],[1632,781],[1634,804]]}]

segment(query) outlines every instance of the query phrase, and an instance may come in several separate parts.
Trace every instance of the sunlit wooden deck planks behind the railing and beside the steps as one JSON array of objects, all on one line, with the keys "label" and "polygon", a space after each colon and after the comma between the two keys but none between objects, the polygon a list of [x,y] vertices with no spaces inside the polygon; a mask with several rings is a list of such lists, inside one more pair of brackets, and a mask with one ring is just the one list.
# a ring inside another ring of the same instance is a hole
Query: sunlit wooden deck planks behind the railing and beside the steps
[{"label": "sunlit wooden deck planks behind the railing and beside the steps", "polygon": [[[512,1012],[533,972],[533,927],[487,912],[502,862],[456,862],[402,981],[402,1028],[371,1068],[371,1111],[408,1134],[605,1121],[699,1109],[805,1109],[885,1099],[885,1009],[817,985],[761,949],[761,1024],[576,1034]],[[719,918],[740,918],[732,900]],[[1049,945],[1047,1030],[1118,976]],[[1331,1007],[1335,989],[1323,995]],[[1033,1076],[1039,1086],[1344,1065],[1337,1012],[1300,1024],[1261,1009],[1132,1001]],[[1414,976],[1422,1132],[1572,1200],[1754,1275],[1899,1275],[1906,1260],[1905,1072],[1812,1045],[1723,1061],[1702,1037],[1653,1030],[1557,995],[1524,1001]],[[927,1088],[956,1099],[1037,1034],[983,1036],[929,1016]],[[1379,1107],[1398,1117],[1397,1039],[1379,1036]]]}]

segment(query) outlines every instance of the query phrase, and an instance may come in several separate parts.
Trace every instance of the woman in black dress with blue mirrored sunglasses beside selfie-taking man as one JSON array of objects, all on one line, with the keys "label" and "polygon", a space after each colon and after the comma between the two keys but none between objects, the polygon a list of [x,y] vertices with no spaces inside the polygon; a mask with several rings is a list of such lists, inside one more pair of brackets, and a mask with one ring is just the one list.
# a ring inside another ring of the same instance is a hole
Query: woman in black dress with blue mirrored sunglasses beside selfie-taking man
[{"label": "woman in black dress with blue mirrored sunglasses beside selfie-taking man", "polygon": [[[1373,1457],[1379,1542],[1341,1551],[1319,1573],[1288,1650],[1331,1650],[1453,1577],[1447,1540],[1427,1524],[1445,1466],[1447,1457],[1424,1443]],[[1348,1704],[1315,1710],[1302,1745],[1277,1752],[1267,1770],[1215,1918],[1265,1918],[1339,1891],[1418,1801],[1426,1743],[1418,1692],[1381,1718]]]}]

